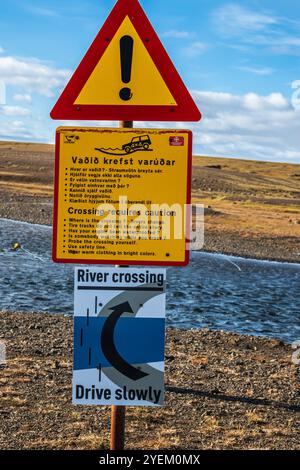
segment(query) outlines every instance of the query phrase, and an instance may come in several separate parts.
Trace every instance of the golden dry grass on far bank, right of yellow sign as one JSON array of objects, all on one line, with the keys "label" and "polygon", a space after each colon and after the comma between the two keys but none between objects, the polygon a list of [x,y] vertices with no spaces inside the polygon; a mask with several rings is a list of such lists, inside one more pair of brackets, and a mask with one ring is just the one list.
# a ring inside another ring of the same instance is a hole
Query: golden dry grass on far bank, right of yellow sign
[{"label": "golden dry grass on far bank, right of yellow sign", "polygon": [[[215,166],[221,168],[213,168]],[[300,236],[299,165],[194,157],[193,201],[220,212],[206,231],[243,237]]]}]

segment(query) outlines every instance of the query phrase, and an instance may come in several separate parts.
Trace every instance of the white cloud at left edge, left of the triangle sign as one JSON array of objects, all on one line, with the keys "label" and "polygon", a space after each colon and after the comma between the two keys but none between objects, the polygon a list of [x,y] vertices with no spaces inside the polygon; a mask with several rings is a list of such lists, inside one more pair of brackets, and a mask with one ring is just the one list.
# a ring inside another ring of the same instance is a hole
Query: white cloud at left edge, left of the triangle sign
[{"label": "white cloud at left edge, left of the triangle sign", "polygon": [[55,69],[37,59],[0,57],[0,76],[7,85],[18,85],[26,93],[52,97],[70,76],[69,70]]}]

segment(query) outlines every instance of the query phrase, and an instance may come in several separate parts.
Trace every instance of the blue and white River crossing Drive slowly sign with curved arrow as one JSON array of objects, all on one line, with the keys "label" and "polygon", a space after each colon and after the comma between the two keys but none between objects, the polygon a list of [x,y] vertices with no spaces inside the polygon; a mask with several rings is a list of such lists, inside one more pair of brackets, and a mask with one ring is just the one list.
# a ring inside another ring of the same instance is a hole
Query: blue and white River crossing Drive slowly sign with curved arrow
[{"label": "blue and white River crossing Drive slowly sign with curved arrow", "polygon": [[165,284],[165,269],[75,269],[73,403],[163,405]]}]

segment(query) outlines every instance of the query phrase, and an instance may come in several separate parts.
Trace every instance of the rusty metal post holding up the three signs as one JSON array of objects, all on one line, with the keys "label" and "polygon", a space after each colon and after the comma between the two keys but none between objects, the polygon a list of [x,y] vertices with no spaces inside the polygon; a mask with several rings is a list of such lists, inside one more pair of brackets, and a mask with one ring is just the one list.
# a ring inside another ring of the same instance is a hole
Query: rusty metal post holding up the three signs
[{"label": "rusty metal post holding up the three signs", "polygon": [[[133,121],[120,121],[120,128],[133,127]],[[111,407],[110,450],[124,450],[125,444],[126,406]]]}]

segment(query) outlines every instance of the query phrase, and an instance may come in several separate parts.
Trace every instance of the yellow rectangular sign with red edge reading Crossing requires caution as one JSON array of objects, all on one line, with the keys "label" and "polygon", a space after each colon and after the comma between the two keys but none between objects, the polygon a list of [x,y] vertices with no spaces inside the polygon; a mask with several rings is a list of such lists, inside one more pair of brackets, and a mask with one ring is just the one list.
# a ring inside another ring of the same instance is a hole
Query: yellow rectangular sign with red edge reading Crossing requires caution
[{"label": "yellow rectangular sign with red edge reading Crossing requires caution", "polygon": [[192,134],[57,130],[53,260],[185,265]]}]

